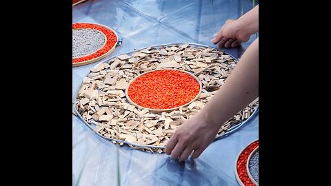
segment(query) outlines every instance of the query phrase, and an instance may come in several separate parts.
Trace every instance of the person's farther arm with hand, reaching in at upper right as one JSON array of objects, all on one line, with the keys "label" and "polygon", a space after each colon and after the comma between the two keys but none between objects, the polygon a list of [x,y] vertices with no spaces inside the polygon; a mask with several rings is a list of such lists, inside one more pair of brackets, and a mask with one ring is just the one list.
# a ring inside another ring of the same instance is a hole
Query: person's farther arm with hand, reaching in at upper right
[{"label": "person's farther arm with hand, reaching in at upper right", "polygon": [[223,46],[237,47],[241,42],[246,42],[252,34],[259,32],[259,5],[243,14],[239,19],[228,19],[217,35],[212,39],[219,48]]}]

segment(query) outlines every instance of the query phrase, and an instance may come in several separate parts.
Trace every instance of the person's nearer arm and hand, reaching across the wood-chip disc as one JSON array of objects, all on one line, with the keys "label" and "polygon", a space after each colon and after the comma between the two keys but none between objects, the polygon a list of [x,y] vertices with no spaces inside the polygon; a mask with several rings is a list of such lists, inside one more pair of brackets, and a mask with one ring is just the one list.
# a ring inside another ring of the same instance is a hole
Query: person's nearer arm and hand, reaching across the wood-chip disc
[{"label": "person's nearer arm and hand, reaching across the wood-chip disc", "polygon": [[201,111],[185,121],[165,145],[165,153],[197,158],[229,118],[259,96],[259,38],[243,53],[224,85]]}]

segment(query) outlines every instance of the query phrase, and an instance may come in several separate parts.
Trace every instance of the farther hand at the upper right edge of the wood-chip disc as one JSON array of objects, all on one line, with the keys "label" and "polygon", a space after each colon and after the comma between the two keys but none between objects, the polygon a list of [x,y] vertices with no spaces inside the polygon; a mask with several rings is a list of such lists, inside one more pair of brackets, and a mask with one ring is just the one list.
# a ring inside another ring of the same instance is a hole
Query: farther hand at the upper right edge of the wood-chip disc
[{"label": "farther hand at the upper right edge of the wood-chip disc", "polygon": [[248,41],[250,35],[251,33],[248,30],[241,28],[237,20],[228,19],[212,39],[212,43],[215,45],[218,43],[219,48],[229,48],[230,46],[235,48],[240,43]]}]

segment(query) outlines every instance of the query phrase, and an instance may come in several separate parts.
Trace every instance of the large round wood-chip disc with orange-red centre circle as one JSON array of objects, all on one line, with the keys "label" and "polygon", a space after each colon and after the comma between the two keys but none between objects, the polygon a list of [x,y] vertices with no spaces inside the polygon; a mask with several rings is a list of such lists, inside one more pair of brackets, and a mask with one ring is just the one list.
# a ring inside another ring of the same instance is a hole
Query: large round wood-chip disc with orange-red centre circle
[{"label": "large round wood-chip disc with orange-red centre circle", "polygon": [[[203,109],[236,65],[232,56],[193,43],[155,45],[119,54],[90,70],[77,92],[75,110],[102,138],[161,153],[174,131]],[[178,94],[171,92],[176,87]],[[250,121],[258,104],[258,99],[252,101],[226,121],[215,139]]]}]

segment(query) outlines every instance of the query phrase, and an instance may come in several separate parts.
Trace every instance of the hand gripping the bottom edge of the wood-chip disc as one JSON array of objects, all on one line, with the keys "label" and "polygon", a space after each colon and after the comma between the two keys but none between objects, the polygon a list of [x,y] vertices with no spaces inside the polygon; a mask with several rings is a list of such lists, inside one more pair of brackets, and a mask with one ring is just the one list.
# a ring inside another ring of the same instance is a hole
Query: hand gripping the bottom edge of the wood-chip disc
[{"label": "hand gripping the bottom edge of the wood-chip disc", "polygon": [[185,121],[165,145],[165,153],[185,161],[188,156],[197,158],[214,141],[219,125],[212,125],[202,111]]}]

